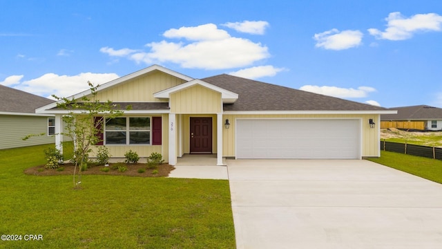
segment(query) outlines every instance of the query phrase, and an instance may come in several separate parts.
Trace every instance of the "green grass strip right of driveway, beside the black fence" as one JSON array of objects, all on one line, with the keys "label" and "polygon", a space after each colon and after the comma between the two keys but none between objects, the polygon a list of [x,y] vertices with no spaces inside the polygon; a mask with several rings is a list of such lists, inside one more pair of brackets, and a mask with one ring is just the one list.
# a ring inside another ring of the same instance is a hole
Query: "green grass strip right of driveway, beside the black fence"
[{"label": "green grass strip right of driveway, beside the black fence", "polygon": [[380,158],[369,158],[375,163],[399,169],[436,183],[442,183],[442,160],[381,151]]}]

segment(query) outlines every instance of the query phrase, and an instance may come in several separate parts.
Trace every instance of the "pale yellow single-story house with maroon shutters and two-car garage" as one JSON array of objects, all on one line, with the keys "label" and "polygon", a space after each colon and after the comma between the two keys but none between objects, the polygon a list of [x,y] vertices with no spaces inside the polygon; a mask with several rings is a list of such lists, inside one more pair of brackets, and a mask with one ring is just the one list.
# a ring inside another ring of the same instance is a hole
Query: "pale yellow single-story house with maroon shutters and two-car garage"
[{"label": "pale yellow single-story house with maroon shutters and two-car garage", "polygon": [[[380,114],[396,113],[231,75],[196,80],[157,65],[102,84],[96,97],[123,110],[132,105],[103,127],[113,156],[158,152],[171,165],[184,154],[217,154],[218,165],[223,157],[380,156]],[[67,113],[56,103],[36,112],[55,114],[56,124]]]}]

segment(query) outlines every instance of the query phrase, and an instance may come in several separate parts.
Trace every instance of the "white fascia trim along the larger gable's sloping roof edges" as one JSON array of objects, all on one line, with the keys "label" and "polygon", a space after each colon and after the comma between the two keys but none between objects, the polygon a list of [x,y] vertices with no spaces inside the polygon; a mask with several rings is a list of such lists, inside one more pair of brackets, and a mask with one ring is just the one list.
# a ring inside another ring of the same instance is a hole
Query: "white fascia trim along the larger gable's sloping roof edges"
[{"label": "white fascia trim along the larger gable's sloping roof edges", "polygon": [[[144,75],[146,73],[150,73],[150,72],[155,71],[155,70],[162,71],[163,73],[167,73],[167,74],[172,75],[174,77],[178,77],[178,78],[180,78],[182,80],[186,80],[186,81],[193,80],[193,77],[189,77],[189,76],[183,75],[181,73],[177,73],[177,72],[172,71],[172,70],[170,70],[168,68],[165,68],[163,66],[153,65],[153,66],[149,66],[147,68],[144,68],[144,69],[142,69],[140,71],[136,71],[135,73],[131,73],[131,74],[125,75],[123,77],[119,77],[119,78],[117,78],[115,80],[111,80],[110,82],[106,82],[106,83],[100,85],[97,88],[97,91],[102,91],[102,90],[107,89],[109,87],[115,86],[115,85],[117,85],[119,83],[125,82],[127,80],[131,80],[131,79],[133,79],[135,77],[138,77],[140,75]],[[77,99],[79,99],[79,98],[81,98],[83,96],[89,95],[90,93],[92,93],[92,92],[89,89],[89,90],[86,90],[86,91],[82,91],[81,93],[77,93],[75,95],[72,95],[72,96],[68,97],[68,99],[70,99],[70,100],[72,100],[72,99],[77,100]],[[54,102],[54,103],[51,103],[51,104],[47,104],[46,106],[43,106],[43,107],[40,107],[40,108],[36,109],[35,112],[36,113],[44,113],[42,111],[48,110],[48,109],[52,109],[54,107],[57,107],[57,103],[60,103],[62,101],[63,100],[59,100],[57,102]]]}]

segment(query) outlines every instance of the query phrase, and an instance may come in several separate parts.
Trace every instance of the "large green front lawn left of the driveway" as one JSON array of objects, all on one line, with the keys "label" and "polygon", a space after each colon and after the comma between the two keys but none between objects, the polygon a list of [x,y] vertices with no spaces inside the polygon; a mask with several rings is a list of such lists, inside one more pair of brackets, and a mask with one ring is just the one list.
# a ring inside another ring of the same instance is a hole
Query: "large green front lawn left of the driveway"
[{"label": "large green front lawn left of the driveway", "polygon": [[53,145],[0,150],[0,248],[235,248],[229,182],[180,178],[28,176]]}]

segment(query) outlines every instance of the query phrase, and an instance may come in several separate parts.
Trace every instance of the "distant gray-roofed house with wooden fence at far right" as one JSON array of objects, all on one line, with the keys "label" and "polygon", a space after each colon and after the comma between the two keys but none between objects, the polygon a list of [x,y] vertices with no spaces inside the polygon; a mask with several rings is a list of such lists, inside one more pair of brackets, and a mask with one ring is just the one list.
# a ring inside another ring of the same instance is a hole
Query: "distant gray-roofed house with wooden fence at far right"
[{"label": "distant gray-roofed house with wooden fence at far right", "polygon": [[425,104],[411,107],[394,107],[397,114],[381,115],[381,128],[442,130],[442,109]]}]

